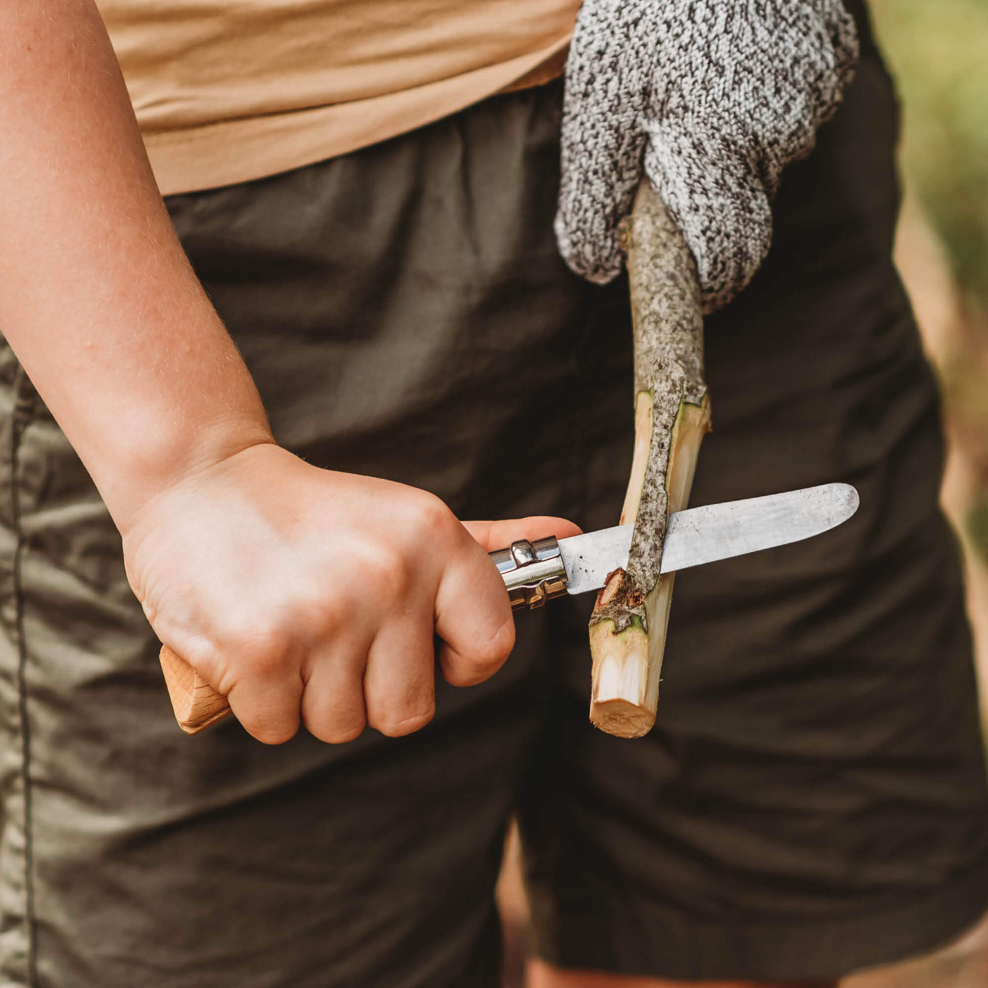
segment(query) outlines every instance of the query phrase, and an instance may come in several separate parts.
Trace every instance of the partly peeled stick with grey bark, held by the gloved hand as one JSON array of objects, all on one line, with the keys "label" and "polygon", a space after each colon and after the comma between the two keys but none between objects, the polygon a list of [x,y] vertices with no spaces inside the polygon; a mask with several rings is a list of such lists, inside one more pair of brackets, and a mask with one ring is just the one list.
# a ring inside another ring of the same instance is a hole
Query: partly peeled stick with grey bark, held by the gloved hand
[{"label": "partly peeled stick with grey bark, held by the gloved hand", "polygon": [[590,618],[590,719],[618,737],[655,723],[673,573],[662,576],[670,512],[686,508],[710,429],[703,317],[693,255],[647,182],[625,229],[634,333],[635,442],[620,523],[634,523]]}]

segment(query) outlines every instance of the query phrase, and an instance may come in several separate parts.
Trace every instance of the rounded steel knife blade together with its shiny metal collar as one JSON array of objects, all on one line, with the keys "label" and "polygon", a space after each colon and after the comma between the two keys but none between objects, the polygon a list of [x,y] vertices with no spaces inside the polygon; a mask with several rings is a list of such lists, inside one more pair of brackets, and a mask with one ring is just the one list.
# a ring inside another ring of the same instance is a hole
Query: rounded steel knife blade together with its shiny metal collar
[{"label": "rounded steel knife blade together with its shiny metal collar", "polygon": [[[831,483],[765,497],[690,508],[669,516],[663,573],[800,541],[846,522],[858,491]],[[569,538],[514,542],[491,552],[515,608],[539,607],[563,593],[600,590],[608,574],[627,565],[632,525]]]}]

